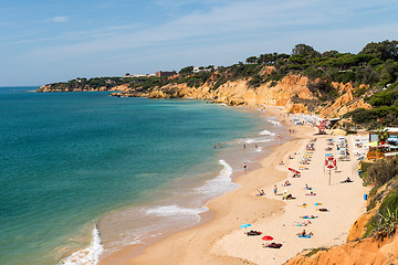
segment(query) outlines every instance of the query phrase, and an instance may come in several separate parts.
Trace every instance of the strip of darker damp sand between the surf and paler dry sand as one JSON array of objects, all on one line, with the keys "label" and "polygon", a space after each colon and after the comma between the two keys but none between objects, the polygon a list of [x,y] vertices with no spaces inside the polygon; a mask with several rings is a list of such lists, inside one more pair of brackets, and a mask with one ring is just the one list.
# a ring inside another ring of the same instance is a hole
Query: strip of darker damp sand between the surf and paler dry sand
[{"label": "strip of darker damp sand between the surf and paler dry sand", "polygon": [[[263,113],[264,116],[266,117],[276,117],[277,120],[280,123],[282,123],[283,129],[287,130],[290,128],[293,128],[294,126],[290,123],[285,123],[285,120],[282,120],[284,116],[283,109],[281,107],[276,107],[276,106],[265,106],[265,113]],[[200,213],[200,221],[199,223],[189,226],[187,229],[184,229],[182,231],[177,231],[177,232],[169,232],[169,233],[165,233],[161,236],[158,236],[157,239],[154,239],[149,245],[130,245],[127,247],[122,248],[118,252],[115,252],[108,256],[106,256],[105,258],[102,258],[100,261],[100,264],[111,264],[111,265],[116,265],[116,264],[157,264],[157,262],[154,262],[151,258],[149,258],[148,261],[146,261],[146,258],[142,259],[142,257],[146,257],[148,253],[151,252],[153,248],[163,248],[161,245],[168,245],[168,244],[172,244],[174,241],[176,241],[176,237],[186,237],[186,234],[190,234],[190,233],[196,233],[196,231],[203,231],[203,230],[208,230],[208,227],[211,227],[213,225],[213,223],[219,223],[220,219],[224,218],[226,215],[228,215],[228,206],[224,206],[224,197],[229,198],[232,197],[237,198],[237,194],[233,193],[239,193],[238,197],[240,197],[241,194],[241,190],[244,190],[244,197],[249,197],[249,200],[252,201],[252,197],[254,194],[254,201],[256,201],[255,203],[258,204],[258,208],[261,209],[260,204],[263,204],[264,202],[259,202],[258,199],[260,199],[261,201],[264,200],[264,198],[255,198],[255,192],[256,190],[260,190],[261,187],[264,186],[270,186],[273,184],[277,181],[281,181],[282,179],[285,179],[285,172],[283,171],[279,171],[276,174],[272,176],[271,178],[264,178],[261,181],[258,181],[256,174],[259,172],[265,173],[265,172],[270,172],[274,170],[274,166],[276,163],[279,163],[280,160],[283,160],[284,157],[287,156],[287,152],[291,151],[292,148],[287,148],[287,146],[292,146],[292,144],[295,146],[295,148],[300,148],[303,145],[303,141],[305,140],[305,137],[308,136],[308,134],[313,132],[313,128],[308,128],[308,127],[294,127],[297,132],[293,134],[293,135],[287,135],[290,136],[290,139],[284,139],[283,144],[281,146],[274,146],[272,147],[272,151],[270,153],[266,153],[262,157],[260,157],[258,159],[258,161],[255,161],[255,168],[250,168],[250,170],[248,170],[248,172],[237,172],[235,177],[231,177],[232,181],[234,183],[238,183],[240,187],[238,187],[237,189],[229,191],[224,194],[221,194],[220,197],[217,197],[214,199],[212,199],[206,206],[209,208],[209,211],[205,212],[205,213]],[[292,138],[293,137],[293,138]],[[287,148],[287,150],[286,150]],[[294,149],[294,148],[293,148]],[[272,162],[270,162],[270,158],[272,160]],[[248,174],[250,174],[251,177],[251,181],[250,181],[250,189],[248,190]],[[258,182],[258,184],[255,184],[255,182]],[[243,188],[242,188],[243,187]],[[248,194],[249,192],[249,194]],[[229,201],[230,199],[227,199],[227,201]],[[270,200],[270,199],[265,199],[266,202],[264,204],[266,204],[269,206],[269,212],[268,213],[263,213],[263,218],[265,215],[276,215],[276,214],[282,214],[283,212],[283,206],[284,206],[284,202],[279,202],[275,200]],[[220,202],[221,201],[221,205],[220,206]],[[222,209],[222,210],[221,210]],[[227,211],[226,211],[227,210]],[[252,215],[252,213],[248,212],[247,214]],[[244,215],[244,214],[243,214]],[[241,221],[244,220],[244,221]],[[235,227],[239,223],[241,222],[253,222],[255,221],[255,218],[241,218],[241,219],[237,219],[237,224],[235,225],[228,225],[230,226],[227,231],[222,232],[221,234],[226,234],[228,232],[231,232],[233,230],[233,227]],[[217,225],[216,225],[217,226]],[[239,226],[239,225],[238,225]],[[188,240],[188,242],[191,240]],[[184,245],[184,244],[182,244]],[[168,247],[165,247],[168,248]],[[170,256],[169,256],[170,257]],[[161,257],[161,259],[164,261],[164,257]],[[230,258],[227,258],[230,259]],[[240,259],[240,258],[239,258]],[[174,264],[174,262],[176,262],[176,259],[172,259],[172,262],[170,262],[170,264]],[[229,261],[228,263],[230,263],[231,261]],[[185,264],[185,263],[181,263]]]}]

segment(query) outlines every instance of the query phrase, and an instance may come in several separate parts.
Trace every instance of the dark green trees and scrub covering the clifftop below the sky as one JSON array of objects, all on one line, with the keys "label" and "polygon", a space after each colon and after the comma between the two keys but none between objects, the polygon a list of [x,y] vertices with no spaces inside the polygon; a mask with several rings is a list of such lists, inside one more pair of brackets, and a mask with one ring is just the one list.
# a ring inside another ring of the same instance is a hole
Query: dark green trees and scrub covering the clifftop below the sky
[{"label": "dark green trees and scrub covering the clifftop below the sky", "polygon": [[[271,66],[272,71],[264,71],[265,66]],[[207,84],[211,89],[217,89],[228,81],[248,80],[248,84],[255,89],[265,83],[274,86],[290,74],[307,76],[307,87],[317,96],[320,104],[334,102],[341,96],[332,82],[352,83],[354,96],[364,97],[373,108],[359,108],[346,114],[346,117],[368,127],[375,127],[376,120],[380,118],[381,125],[398,124],[398,41],[371,42],[357,54],[334,50],[320,53],[310,45],[297,44],[291,54],[265,53],[250,56],[244,62],[221,66],[216,71],[212,65],[200,67],[196,72],[193,66],[187,66],[171,77],[76,78],[51,86],[64,87],[65,91],[78,87],[84,91],[84,87],[111,89],[128,84],[133,91],[150,92],[167,84],[186,84],[189,87]]]}]

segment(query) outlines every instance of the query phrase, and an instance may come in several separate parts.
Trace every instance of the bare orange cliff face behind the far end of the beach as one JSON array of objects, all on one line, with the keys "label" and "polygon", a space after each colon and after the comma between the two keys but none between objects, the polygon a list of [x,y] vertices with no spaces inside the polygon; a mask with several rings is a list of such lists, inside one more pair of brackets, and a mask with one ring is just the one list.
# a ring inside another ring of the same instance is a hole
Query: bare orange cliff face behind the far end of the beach
[{"label": "bare orange cliff face behind the far end of the beach", "polygon": [[[272,67],[264,67],[260,73],[264,76],[273,71]],[[199,87],[189,87],[187,84],[168,84],[154,88],[147,96],[149,98],[197,98],[224,103],[231,106],[237,105],[271,105],[283,106],[287,113],[308,113],[306,102],[318,102],[317,97],[308,88],[308,77],[303,75],[287,75],[279,82],[268,82],[259,87],[251,87],[250,78],[228,81],[213,89],[216,74],[212,74],[207,83]],[[332,83],[341,95],[334,103],[320,106],[312,112],[325,118],[339,117],[356,108],[370,108],[363,98],[355,98],[353,85],[343,83]]]}]

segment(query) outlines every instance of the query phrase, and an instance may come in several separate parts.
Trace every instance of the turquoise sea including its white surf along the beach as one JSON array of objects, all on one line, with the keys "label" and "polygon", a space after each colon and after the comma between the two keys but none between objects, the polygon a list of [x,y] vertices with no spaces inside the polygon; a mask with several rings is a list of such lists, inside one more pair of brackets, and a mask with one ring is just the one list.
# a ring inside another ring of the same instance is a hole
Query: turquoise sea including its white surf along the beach
[{"label": "turquoise sea including its white surf along the beach", "polygon": [[0,87],[4,265],[96,264],[196,223],[281,130],[200,100],[27,92],[35,88]]}]

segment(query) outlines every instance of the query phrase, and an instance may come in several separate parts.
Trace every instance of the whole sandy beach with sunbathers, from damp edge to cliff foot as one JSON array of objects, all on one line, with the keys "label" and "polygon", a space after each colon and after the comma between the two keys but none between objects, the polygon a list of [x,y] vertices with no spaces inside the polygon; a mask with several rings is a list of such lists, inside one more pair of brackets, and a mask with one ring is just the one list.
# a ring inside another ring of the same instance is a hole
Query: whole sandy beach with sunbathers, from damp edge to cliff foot
[{"label": "whole sandy beach with sunbathers, from damp edge to cliff foot", "polygon": [[[289,117],[282,117],[280,108],[266,107],[266,113],[280,117],[281,121],[284,119],[283,126],[292,126]],[[260,161],[260,168],[249,167],[245,174],[234,179],[240,188],[208,204],[211,211],[205,215],[210,221],[170,235],[139,255],[136,247],[130,246],[107,256],[100,264],[283,264],[305,248],[345,243],[350,225],[365,211],[364,193],[367,193],[357,176],[353,151],[350,161],[337,161],[337,170],[332,170],[329,184],[324,160],[326,152],[335,153],[335,146],[332,151],[325,150],[331,136],[314,136],[317,129],[306,126],[294,127],[294,130],[295,139],[274,148]],[[316,139],[312,141],[315,150],[306,152],[310,139]],[[350,136],[346,139],[352,150]],[[300,165],[304,157],[311,160],[310,165]],[[284,165],[280,165],[281,161]],[[300,170],[301,177],[292,178],[289,167]],[[347,177],[354,182],[341,183]],[[283,187],[286,179],[291,186]],[[306,190],[305,184],[313,190]],[[274,186],[279,195],[273,192]],[[258,197],[261,189],[265,194]],[[285,190],[295,199],[282,200],[281,194]],[[311,191],[316,195],[307,195]],[[317,218],[310,220],[307,226],[293,225],[306,221],[301,219],[304,215]],[[244,223],[251,226],[240,229]],[[314,235],[311,239],[298,237],[296,234],[303,229]],[[245,232],[250,230],[261,231],[262,235],[248,236]],[[273,240],[263,241],[264,235]],[[282,247],[263,247],[271,242],[281,243]]]}]

